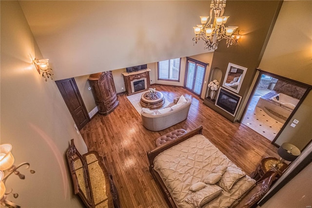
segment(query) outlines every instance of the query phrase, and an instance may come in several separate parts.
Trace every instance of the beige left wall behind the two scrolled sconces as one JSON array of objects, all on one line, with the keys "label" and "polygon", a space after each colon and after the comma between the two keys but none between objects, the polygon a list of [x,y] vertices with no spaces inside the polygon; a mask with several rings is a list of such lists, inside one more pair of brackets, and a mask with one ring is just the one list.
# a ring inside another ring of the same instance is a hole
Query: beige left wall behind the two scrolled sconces
[{"label": "beige left wall behind the two scrolled sconces", "polygon": [[31,57],[42,58],[18,1],[0,1],[1,13],[1,144],[10,143],[15,165],[26,179],[11,175],[7,190],[19,197],[21,207],[80,207],[71,187],[65,152],[71,139],[81,153],[87,151],[82,137],[53,80],[38,74]]}]

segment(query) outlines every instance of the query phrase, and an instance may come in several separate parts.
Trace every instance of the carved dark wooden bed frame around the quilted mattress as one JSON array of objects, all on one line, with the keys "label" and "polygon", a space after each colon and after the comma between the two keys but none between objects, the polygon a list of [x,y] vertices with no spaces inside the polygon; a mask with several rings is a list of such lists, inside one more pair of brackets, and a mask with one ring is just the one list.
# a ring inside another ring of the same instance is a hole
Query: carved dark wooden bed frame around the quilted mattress
[{"label": "carved dark wooden bed frame around the quilted mattress", "polygon": [[[199,126],[195,128],[194,130],[187,132],[186,134],[178,137],[176,140],[172,140],[170,142],[167,142],[161,146],[156,147],[153,150],[147,151],[147,158],[149,161],[149,170],[151,174],[153,175],[153,178],[156,181],[156,184],[160,187],[162,193],[165,196],[166,202],[169,205],[170,208],[177,208],[176,203],[171,196],[170,192],[168,191],[166,185],[162,181],[160,175],[154,170],[154,159],[155,157],[162,151],[171,148],[172,146],[175,146],[197,134],[202,135],[203,127]],[[276,180],[276,171],[268,171],[266,174],[266,177],[262,177],[262,181],[259,181],[254,188],[250,189],[243,198],[241,198],[240,202],[238,202],[235,205],[235,202],[232,206],[236,208],[251,208],[256,205],[256,203],[262,198],[262,196],[269,190],[273,182]]]}]

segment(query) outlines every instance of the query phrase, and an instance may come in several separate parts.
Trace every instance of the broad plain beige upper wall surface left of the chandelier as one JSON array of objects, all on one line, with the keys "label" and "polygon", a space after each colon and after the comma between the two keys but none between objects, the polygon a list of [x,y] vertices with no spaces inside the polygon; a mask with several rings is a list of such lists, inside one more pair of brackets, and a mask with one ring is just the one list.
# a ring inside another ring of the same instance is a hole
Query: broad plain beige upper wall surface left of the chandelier
[{"label": "broad plain beige upper wall surface left of the chandelier", "polygon": [[[193,26],[210,1],[20,1],[56,80],[205,53]],[[187,15],[187,18],[186,18]]]}]

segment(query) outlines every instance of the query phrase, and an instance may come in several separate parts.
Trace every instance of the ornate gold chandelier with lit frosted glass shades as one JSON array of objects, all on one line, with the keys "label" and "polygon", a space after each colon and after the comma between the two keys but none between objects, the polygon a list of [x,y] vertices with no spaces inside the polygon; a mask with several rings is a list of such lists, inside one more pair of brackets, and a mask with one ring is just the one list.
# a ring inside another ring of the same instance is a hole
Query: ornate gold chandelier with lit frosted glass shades
[{"label": "ornate gold chandelier with lit frosted glass shades", "polygon": [[[216,50],[218,43],[225,39],[226,44],[237,45],[241,35],[236,26],[226,27],[224,24],[229,19],[229,16],[223,16],[226,0],[212,0],[210,4],[210,17],[201,16],[201,24],[197,24],[194,28],[195,37],[193,38],[194,45],[200,39],[205,42],[204,49]],[[213,13],[215,18],[213,19]]]}]

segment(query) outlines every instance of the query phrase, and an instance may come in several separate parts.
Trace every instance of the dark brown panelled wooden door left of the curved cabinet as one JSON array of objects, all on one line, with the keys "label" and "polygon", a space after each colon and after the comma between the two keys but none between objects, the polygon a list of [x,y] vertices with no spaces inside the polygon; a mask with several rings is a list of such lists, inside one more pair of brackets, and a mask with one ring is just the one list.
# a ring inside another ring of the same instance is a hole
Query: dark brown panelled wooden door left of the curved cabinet
[{"label": "dark brown panelled wooden door left of the curved cabinet", "polygon": [[89,121],[89,115],[83,104],[77,84],[74,78],[56,81],[60,94],[62,95],[65,104],[72,115],[75,124],[80,130]]}]

